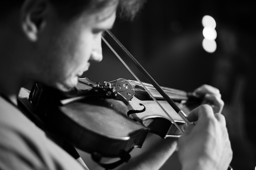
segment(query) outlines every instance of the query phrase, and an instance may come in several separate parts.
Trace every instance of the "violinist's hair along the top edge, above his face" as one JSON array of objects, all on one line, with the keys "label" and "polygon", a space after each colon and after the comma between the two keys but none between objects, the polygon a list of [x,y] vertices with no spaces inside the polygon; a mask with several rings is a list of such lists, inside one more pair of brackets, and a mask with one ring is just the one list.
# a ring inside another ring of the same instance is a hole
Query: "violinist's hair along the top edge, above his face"
[{"label": "violinist's hair along the top edge, above his face", "polygon": [[[83,11],[95,12],[119,3],[117,16],[133,19],[146,0],[49,0],[58,14],[66,20],[76,17]],[[0,2],[0,18],[14,9],[19,9],[25,0],[8,0]]]}]

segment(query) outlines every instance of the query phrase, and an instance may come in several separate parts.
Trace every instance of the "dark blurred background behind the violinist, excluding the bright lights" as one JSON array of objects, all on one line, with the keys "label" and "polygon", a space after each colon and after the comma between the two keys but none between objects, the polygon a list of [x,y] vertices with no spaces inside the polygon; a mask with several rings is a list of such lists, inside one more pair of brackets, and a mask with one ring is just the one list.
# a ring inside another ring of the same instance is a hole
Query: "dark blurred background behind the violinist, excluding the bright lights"
[{"label": "dark blurred background behind the violinist, excluding the bright lights", "polygon": [[[193,91],[210,84],[220,89],[234,170],[256,166],[255,8],[253,1],[245,0],[148,0],[132,22],[117,20],[112,29],[161,86]],[[217,23],[214,53],[202,48],[204,15]],[[103,57],[84,76],[94,82],[134,79],[104,43]],[[175,169],[176,161],[174,155],[162,169]]]}]

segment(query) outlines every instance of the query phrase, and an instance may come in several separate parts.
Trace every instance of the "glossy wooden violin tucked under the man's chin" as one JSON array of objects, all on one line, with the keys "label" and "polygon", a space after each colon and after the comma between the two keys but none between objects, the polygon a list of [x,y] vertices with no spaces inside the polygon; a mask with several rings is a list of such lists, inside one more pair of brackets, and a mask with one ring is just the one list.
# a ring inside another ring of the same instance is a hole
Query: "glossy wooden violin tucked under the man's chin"
[{"label": "glossy wooden violin tucked under the man's chin", "polygon": [[[152,86],[151,91],[155,91]],[[184,91],[171,91],[169,95],[184,110],[188,109],[186,101],[198,98]],[[185,121],[156,91],[154,95],[184,130]],[[28,101],[29,117],[37,126],[90,153],[94,161],[108,169],[128,161],[129,153],[143,146],[148,133],[162,138],[182,135],[139,83],[132,80],[117,79],[101,85],[79,78],[76,88],[65,93],[36,82]],[[100,162],[103,157],[120,160],[106,165]]]}]

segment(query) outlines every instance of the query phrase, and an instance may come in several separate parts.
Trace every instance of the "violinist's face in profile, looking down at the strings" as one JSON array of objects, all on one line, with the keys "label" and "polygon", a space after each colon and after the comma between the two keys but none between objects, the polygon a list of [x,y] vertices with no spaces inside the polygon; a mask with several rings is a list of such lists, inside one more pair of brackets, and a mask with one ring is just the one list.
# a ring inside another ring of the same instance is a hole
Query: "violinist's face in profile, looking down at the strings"
[{"label": "violinist's face in profile, looking down at the strings", "polygon": [[101,34],[115,21],[115,7],[93,14],[82,14],[72,22],[49,18],[39,37],[37,65],[40,82],[63,91],[77,84],[90,62],[102,60]]}]

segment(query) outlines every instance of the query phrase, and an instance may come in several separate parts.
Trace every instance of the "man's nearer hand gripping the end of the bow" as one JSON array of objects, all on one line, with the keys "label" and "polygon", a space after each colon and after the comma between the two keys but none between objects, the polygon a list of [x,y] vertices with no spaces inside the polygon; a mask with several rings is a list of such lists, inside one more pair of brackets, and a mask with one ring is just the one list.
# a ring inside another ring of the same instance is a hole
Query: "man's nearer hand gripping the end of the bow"
[{"label": "man's nearer hand gripping the end of the bow", "polygon": [[211,106],[201,105],[188,115],[189,124],[179,139],[182,170],[227,170],[232,150],[225,117],[214,114]]}]

